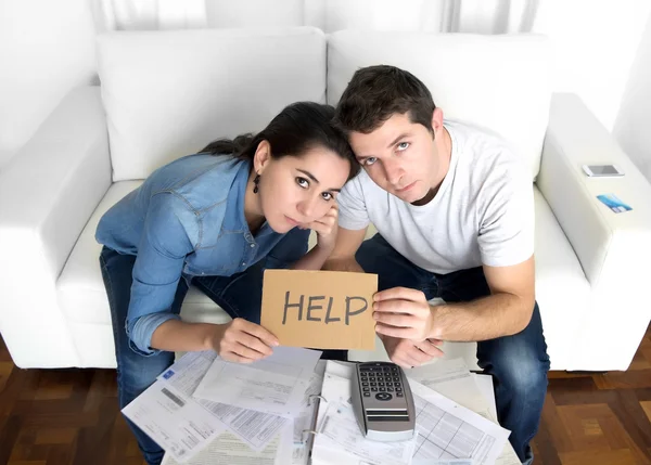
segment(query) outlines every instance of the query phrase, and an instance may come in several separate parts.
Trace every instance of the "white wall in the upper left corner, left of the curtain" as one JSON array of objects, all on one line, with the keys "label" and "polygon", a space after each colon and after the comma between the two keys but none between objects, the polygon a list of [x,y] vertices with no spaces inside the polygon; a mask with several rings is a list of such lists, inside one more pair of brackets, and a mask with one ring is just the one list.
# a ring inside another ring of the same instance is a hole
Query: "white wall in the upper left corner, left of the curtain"
[{"label": "white wall in the upper left corner, left of the curtain", "polygon": [[94,68],[87,0],[0,0],[0,169]]}]

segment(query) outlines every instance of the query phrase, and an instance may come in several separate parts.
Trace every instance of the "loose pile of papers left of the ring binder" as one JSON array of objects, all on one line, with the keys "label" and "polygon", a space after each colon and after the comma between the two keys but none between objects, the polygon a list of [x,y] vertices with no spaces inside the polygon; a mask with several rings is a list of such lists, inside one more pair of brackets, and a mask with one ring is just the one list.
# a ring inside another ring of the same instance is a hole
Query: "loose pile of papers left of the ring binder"
[{"label": "loose pile of papers left of the ring binder", "polygon": [[[264,362],[228,363],[190,352],[123,412],[167,452],[165,464],[302,464],[321,352],[277,348]],[[318,362],[318,363],[317,363]]]}]

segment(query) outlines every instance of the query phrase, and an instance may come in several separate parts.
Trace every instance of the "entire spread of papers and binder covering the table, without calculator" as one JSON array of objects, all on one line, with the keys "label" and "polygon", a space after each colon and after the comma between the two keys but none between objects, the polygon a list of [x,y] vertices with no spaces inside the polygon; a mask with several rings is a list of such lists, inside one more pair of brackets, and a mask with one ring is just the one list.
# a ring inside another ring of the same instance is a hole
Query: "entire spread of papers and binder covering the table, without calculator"
[{"label": "entire spread of papers and binder covering the table, without calculator", "polygon": [[166,450],[163,465],[307,465],[310,453],[314,465],[520,463],[497,424],[490,377],[461,359],[407,371],[417,435],[383,443],[357,425],[353,364],[319,356],[280,348],[253,366],[188,353],[124,413]]}]

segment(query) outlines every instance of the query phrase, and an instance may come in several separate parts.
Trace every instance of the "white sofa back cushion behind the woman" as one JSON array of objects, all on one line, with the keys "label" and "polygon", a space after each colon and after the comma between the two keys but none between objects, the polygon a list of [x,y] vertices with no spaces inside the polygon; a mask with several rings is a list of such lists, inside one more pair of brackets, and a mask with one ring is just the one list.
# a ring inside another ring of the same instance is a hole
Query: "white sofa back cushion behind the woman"
[{"label": "white sofa back cushion behind the woman", "polygon": [[290,103],[326,103],[326,36],[311,27],[120,31],[98,55],[114,181],[259,131]]}]

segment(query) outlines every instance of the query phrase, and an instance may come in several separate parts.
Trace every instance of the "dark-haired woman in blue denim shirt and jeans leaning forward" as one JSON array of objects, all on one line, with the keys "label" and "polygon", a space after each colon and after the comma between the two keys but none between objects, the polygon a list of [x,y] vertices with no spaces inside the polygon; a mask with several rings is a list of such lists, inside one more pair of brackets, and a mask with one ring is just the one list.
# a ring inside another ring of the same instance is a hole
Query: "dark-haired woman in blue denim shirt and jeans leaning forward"
[{"label": "dark-haired woman in blue denim shirt and jeans leaning forward", "polygon": [[[259,326],[265,268],[318,270],[334,247],[336,194],[359,170],[334,109],[285,107],[255,137],[213,142],[153,172],[101,219],[95,237],[111,306],[120,409],[174,361],[215,350],[250,363],[278,339]],[[309,231],[317,245],[306,254]],[[183,322],[192,282],[231,317]],[[163,450],[129,422],[146,462]]]}]

